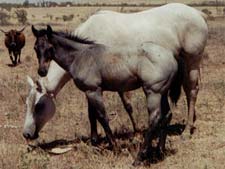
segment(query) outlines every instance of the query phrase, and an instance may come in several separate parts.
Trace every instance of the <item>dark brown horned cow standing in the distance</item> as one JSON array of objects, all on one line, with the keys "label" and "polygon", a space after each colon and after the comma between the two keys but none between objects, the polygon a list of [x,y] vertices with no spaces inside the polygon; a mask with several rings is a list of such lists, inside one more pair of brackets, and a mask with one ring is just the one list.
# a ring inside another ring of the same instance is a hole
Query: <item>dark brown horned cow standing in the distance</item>
[{"label": "dark brown horned cow standing in the distance", "polygon": [[[17,58],[18,62],[20,63],[20,55],[21,55],[21,49],[25,45],[25,36],[23,34],[25,27],[21,30],[10,30],[8,32],[1,30],[5,34],[5,46],[8,48],[9,56],[12,61],[13,65],[17,64]],[[14,55],[14,59],[12,57],[12,53]]]}]

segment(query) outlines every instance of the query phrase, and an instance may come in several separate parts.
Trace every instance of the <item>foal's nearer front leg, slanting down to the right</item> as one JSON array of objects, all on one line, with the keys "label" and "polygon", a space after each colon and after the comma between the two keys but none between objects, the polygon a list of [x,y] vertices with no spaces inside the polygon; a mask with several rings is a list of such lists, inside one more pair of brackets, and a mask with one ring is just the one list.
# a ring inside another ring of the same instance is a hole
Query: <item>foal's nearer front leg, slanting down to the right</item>
[{"label": "foal's nearer front leg, slanting down to the right", "polygon": [[115,141],[113,138],[112,131],[109,127],[109,119],[106,116],[105,106],[102,98],[102,90],[100,88],[95,91],[89,90],[86,92],[86,96],[91,106],[96,110],[96,118],[105,131],[110,148],[113,148],[115,146]]}]

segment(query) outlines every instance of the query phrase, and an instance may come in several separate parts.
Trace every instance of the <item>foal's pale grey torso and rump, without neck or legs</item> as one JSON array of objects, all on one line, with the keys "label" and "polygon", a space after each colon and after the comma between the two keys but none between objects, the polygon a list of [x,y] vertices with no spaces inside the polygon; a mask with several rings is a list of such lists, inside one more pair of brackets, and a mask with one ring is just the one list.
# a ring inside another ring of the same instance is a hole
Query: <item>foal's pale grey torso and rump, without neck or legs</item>
[{"label": "foal's pale grey torso and rump, without neck or legs", "polygon": [[177,71],[173,53],[150,42],[121,48],[97,45],[89,52],[92,55],[85,54],[87,58],[80,62],[82,66],[75,64],[76,78],[85,79],[87,85],[96,82],[103,90],[129,91],[139,88],[143,82],[155,85]]}]

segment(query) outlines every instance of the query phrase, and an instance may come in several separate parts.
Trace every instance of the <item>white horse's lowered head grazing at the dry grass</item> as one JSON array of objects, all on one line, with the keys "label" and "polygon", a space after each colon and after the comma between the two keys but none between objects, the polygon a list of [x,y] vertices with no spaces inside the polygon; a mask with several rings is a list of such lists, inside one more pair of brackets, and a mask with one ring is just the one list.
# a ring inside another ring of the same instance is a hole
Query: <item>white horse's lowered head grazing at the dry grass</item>
[{"label": "white horse's lowered head grazing at the dry grass", "polygon": [[26,99],[26,117],[23,136],[33,140],[38,138],[39,131],[55,114],[55,104],[47,94],[42,81],[34,81],[28,76],[30,92]]}]

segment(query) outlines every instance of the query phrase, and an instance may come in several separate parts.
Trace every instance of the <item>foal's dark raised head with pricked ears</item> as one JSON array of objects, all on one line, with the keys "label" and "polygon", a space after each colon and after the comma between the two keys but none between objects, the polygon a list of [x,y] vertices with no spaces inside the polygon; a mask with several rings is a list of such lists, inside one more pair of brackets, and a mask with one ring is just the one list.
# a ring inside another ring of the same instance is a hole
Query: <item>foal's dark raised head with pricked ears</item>
[{"label": "foal's dark raised head with pricked ears", "polygon": [[47,75],[50,61],[54,57],[54,47],[50,43],[53,31],[49,25],[47,26],[47,29],[41,30],[35,29],[32,25],[32,32],[36,37],[34,50],[39,62],[38,74],[44,77]]}]

